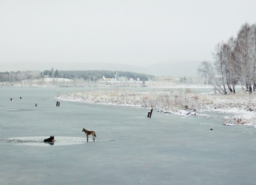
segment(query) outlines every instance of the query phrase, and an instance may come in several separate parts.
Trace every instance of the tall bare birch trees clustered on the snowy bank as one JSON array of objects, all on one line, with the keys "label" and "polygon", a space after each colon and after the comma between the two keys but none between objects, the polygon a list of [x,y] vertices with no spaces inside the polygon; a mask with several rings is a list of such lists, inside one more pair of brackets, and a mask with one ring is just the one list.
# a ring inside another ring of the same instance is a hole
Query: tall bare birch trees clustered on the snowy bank
[{"label": "tall bare birch trees clustered on the snowy bank", "polygon": [[236,85],[256,90],[256,24],[242,24],[236,37],[219,42],[212,53],[214,62],[203,61],[197,72],[219,93],[236,93]]}]

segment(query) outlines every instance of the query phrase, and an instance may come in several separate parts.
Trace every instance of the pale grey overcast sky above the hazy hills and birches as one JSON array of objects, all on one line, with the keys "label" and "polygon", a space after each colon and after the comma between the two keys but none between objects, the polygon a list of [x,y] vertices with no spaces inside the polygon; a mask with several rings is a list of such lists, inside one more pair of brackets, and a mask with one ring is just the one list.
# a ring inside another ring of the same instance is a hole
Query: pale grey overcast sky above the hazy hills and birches
[{"label": "pale grey overcast sky above the hazy hills and birches", "polygon": [[213,60],[255,0],[0,0],[0,62]]}]

